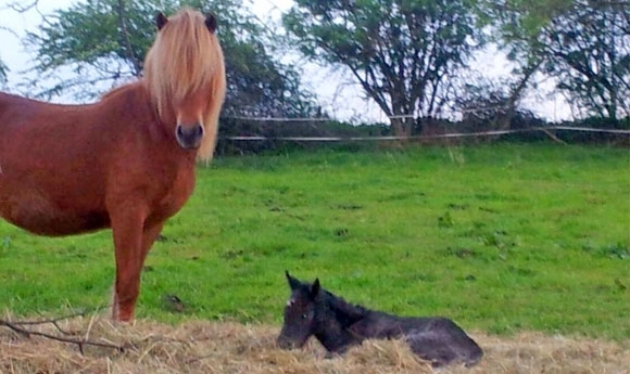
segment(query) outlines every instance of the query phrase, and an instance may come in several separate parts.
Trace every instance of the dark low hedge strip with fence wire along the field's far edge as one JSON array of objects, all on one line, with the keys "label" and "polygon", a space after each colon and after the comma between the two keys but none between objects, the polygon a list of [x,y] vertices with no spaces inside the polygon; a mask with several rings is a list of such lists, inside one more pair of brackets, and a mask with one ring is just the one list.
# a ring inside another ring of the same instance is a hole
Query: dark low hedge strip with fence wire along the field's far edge
[{"label": "dark low hedge strip with fence wire along the field's far edge", "polygon": [[[501,141],[554,141],[630,147],[630,129],[546,125],[544,121],[513,121],[507,128],[496,121],[450,122],[423,118],[413,120],[414,132],[393,133],[391,126],[353,126],[330,118],[222,118],[217,154],[257,154],[319,147],[400,147],[406,144],[459,145]],[[607,125],[607,124],[604,124]],[[505,126],[505,124],[503,124]],[[617,127],[619,127],[617,125]]]}]

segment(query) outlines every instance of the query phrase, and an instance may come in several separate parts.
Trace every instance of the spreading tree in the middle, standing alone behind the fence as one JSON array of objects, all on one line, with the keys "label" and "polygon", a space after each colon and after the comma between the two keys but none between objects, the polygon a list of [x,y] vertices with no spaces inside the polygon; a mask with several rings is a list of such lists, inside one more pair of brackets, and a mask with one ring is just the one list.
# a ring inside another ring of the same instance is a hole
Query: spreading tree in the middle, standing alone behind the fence
[{"label": "spreading tree in the middle, standing alone behind the fence", "polygon": [[479,47],[465,0],[295,0],[284,24],[312,61],[344,66],[410,134],[440,113],[449,78]]}]

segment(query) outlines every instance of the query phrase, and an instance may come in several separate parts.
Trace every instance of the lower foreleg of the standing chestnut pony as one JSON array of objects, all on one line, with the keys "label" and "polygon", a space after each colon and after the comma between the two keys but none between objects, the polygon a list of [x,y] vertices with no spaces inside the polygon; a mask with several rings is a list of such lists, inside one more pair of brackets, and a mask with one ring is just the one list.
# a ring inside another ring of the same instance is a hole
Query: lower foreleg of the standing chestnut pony
[{"label": "lower foreleg of the standing chestnut pony", "polygon": [[163,222],[147,223],[141,215],[112,220],[116,257],[116,280],[112,317],[118,321],[134,319],[136,300],[140,293],[140,274],[149,249]]}]

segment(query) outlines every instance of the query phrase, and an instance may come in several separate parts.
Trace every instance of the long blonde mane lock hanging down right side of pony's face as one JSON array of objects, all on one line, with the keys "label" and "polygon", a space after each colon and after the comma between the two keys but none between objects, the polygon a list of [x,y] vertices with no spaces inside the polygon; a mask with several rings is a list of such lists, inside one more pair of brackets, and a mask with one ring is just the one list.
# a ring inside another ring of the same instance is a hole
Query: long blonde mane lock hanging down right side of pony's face
[{"label": "long blonde mane lock hanging down right side of pony's face", "polygon": [[226,90],[225,64],[220,51],[217,61],[216,72],[214,72],[212,78],[210,103],[207,104],[205,118],[203,118],[204,137],[199,151],[197,151],[197,159],[206,165],[212,162],[212,156],[214,155],[218,132],[218,116],[220,115]]}]

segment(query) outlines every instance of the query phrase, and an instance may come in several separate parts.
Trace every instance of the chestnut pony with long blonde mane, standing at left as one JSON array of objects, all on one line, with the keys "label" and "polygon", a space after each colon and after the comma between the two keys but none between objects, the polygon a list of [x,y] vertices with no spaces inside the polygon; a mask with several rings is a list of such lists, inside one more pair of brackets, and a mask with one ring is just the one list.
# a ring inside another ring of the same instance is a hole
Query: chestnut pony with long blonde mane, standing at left
[{"label": "chestnut pony with long blonde mane, standing at left", "polygon": [[213,15],[156,16],[144,76],[87,105],[0,93],[0,217],[39,235],[111,228],[113,318],[129,321],[144,258],[210,162],[226,81]]}]

